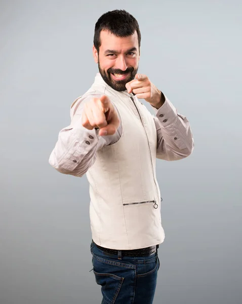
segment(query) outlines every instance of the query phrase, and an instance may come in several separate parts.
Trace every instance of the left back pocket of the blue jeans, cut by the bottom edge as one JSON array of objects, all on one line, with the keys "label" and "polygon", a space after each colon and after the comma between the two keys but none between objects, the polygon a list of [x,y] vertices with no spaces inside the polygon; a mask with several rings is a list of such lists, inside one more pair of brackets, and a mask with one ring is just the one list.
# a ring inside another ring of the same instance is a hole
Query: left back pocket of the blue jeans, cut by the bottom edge
[{"label": "left back pocket of the blue jeans, cut by the bottom edge", "polygon": [[108,304],[114,304],[124,278],[120,278],[113,274],[97,273],[95,271],[93,272],[97,284],[101,285],[103,298]]}]

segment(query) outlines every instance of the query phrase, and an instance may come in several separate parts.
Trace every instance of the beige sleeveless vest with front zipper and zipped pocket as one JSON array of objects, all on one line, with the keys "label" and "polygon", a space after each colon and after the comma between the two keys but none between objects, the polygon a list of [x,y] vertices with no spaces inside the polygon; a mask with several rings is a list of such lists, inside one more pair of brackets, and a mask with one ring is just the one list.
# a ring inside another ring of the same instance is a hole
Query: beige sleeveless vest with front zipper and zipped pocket
[{"label": "beige sleeveless vest with front zipper and zipped pocket", "polygon": [[96,162],[87,172],[92,238],[100,246],[120,250],[160,244],[165,234],[155,174],[153,117],[136,96],[113,90],[99,73],[84,96],[93,93],[110,98],[123,133],[116,143],[97,151]]}]

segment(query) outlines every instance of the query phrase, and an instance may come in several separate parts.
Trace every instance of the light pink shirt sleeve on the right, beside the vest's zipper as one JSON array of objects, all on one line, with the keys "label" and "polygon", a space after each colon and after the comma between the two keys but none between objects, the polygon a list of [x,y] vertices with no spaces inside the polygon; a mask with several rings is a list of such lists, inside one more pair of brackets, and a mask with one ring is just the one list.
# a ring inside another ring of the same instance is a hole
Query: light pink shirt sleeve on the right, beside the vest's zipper
[{"label": "light pink shirt sleeve on the right, beside the vest's zipper", "polygon": [[165,103],[156,109],[154,122],[157,131],[156,157],[166,161],[176,161],[188,157],[194,147],[189,121],[177,112],[165,96]]}]

